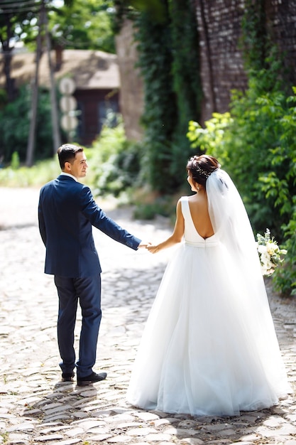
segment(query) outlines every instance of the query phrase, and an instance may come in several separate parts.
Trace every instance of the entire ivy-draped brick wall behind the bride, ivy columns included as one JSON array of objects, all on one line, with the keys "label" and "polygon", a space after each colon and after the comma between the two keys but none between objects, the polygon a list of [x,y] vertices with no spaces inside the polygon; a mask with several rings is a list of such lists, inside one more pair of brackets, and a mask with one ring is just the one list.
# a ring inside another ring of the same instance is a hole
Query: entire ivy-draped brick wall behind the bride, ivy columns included
[{"label": "entire ivy-draped brick wall behind the bride, ivy columns included", "polygon": [[190,120],[203,124],[228,111],[231,92],[247,91],[252,79],[258,94],[296,85],[296,0],[116,3],[119,28],[124,18],[135,26],[143,78],[141,173],[154,191],[172,193],[192,154]]}]

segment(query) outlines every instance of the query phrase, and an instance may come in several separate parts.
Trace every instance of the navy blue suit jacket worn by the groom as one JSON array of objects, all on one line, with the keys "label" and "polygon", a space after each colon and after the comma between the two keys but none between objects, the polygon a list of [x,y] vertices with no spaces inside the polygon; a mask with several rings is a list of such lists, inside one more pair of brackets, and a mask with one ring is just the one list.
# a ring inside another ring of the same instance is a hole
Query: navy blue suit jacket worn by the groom
[{"label": "navy blue suit jacket worn by the groom", "polygon": [[41,188],[38,221],[46,247],[45,274],[76,278],[102,272],[92,225],[133,250],[141,242],[106,216],[89,187],[66,175]]}]

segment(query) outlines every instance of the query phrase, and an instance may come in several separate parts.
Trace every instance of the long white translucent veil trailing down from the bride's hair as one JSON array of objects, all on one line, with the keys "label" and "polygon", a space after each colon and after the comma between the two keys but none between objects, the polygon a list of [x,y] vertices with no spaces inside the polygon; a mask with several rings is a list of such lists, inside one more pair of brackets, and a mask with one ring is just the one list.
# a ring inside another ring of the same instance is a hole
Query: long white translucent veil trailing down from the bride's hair
[{"label": "long white translucent veil trailing down from the bride's hair", "polygon": [[242,323],[268,370],[268,380],[277,392],[288,390],[285,368],[270,313],[251,223],[241,196],[229,175],[218,168],[206,182],[209,215],[214,232],[227,252],[236,301],[243,313]]}]

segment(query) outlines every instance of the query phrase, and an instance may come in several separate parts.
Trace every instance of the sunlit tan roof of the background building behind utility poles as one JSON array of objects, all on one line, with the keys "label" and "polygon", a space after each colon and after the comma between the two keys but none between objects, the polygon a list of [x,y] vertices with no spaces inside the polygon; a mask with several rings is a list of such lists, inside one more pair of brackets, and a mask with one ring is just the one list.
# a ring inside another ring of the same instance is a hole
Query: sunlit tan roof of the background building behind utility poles
[{"label": "sunlit tan roof of the background building behind utility poles", "polygon": [[[62,50],[60,69],[54,71],[55,80],[62,77],[72,77],[77,90],[114,89],[120,87],[117,56],[95,50]],[[57,53],[50,53],[53,68],[55,68]],[[3,72],[3,53],[0,54],[0,87],[5,86]],[[39,85],[49,87],[50,72],[48,68],[48,53],[40,58]],[[35,76],[35,53],[15,53],[11,60],[11,77],[15,79],[16,87],[31,82]]]}]

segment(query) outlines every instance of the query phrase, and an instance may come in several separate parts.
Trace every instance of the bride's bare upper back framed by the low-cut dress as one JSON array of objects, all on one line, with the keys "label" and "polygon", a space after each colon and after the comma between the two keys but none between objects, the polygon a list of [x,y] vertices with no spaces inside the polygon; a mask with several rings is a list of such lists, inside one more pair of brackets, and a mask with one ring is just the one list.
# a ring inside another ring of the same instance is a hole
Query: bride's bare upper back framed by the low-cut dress
[{"label": "bride's bare upper back framed by the low-cut dress", "polygon": [[204,190],[188,198],[191,218],[195,229],[204,239],[214,235],[213,226],[209,218],[207,193]]}]

